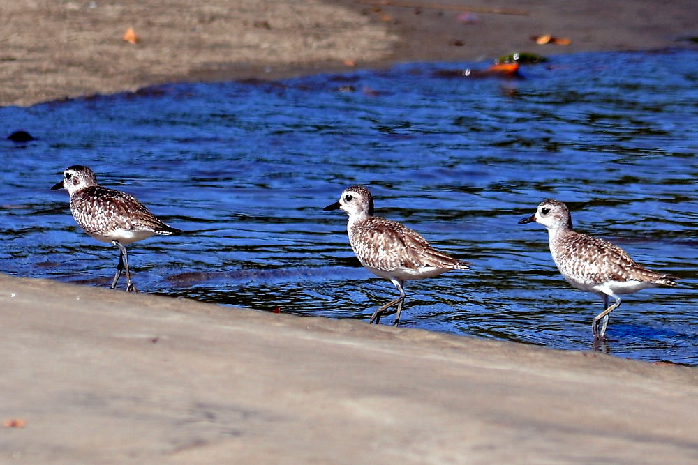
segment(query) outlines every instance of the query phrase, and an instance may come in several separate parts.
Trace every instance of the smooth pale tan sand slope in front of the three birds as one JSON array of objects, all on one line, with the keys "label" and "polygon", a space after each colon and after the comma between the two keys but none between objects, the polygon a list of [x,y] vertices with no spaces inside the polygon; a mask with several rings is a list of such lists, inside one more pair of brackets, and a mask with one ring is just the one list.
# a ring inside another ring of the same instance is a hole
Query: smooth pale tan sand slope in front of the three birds
[{"label": "smooth pale tan sand slope in front of the three birds", "polygon": [[0,411],[26,422],[0,429],[0,462],[698,461],[695,369],[3,275],[0,289]]}]

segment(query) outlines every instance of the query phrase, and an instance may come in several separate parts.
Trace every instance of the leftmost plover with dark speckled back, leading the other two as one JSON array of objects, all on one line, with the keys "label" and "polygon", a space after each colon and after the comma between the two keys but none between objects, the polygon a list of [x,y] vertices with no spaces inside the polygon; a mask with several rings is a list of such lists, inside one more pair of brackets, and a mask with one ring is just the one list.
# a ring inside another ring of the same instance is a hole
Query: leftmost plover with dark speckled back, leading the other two
[{"label": "leftmost plover with dark speckled back, leading the other two", "polygon": [[112,289],[117,286],[122,271],[126,269],[126,290],[138,292],[128,270],[126,245],[153,234],[180,234],[181,229],[158,220],[132,195],[99,185],[94,172],[88,167],[68,167],[63,173],[63,181],[51,189],[60,188],[66,188],[70,194],[70,213],[73,213],[77,224],[98,241],[119,247],[119,264]]}]

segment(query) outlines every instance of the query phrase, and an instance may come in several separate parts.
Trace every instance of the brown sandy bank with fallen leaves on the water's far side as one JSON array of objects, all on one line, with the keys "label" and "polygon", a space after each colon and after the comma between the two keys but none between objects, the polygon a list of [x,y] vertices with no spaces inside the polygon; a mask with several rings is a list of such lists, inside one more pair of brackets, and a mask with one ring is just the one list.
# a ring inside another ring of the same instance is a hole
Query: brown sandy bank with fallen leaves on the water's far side
[{"label": "brown sandy bank with fallen leaves on the water's far side", "polygon": [[[209,0],[197,6],[187,0],[0,0],[0,105],[134,91],[162,82],[274,79],[401,61],[492,60],[517,51],[685,46],[679,38],[698,34],[692,0],[376,3],[385,2]],[[468,8],[468,22],[458,20]],[[128,28],[138,43],[122,39]],[[544,34],[571,43],[531,40]]]}]

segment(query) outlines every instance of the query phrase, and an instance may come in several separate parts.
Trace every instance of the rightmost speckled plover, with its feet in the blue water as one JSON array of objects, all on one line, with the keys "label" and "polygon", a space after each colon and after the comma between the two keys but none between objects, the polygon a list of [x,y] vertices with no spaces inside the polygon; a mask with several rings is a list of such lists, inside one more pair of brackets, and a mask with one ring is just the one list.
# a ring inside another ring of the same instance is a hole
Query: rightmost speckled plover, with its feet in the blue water
[{"label": "rightmost speckled plover, with its feet in the blue water", "polygon": [[[573,231],[572,215],[561,201],[542,201],[535,214],[523,218],[519,224],[530,222],[540,223],[548,229],[550,253],[565,280],[577,289],[593,292],[603,299],[604,311],[591,323],[595,340],[604,339],[609,313],[621,305],[618,294],[631,294],[648,287],[676,286],[676,277],[644,268],[621,247]],[[609,297],[615,299],[610,306]]]}]

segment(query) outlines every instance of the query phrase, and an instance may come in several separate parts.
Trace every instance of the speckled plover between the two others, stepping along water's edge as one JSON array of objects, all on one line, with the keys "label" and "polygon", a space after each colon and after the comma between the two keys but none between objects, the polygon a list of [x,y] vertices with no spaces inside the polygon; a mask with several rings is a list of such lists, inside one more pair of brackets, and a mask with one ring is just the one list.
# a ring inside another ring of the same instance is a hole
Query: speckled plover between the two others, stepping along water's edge
[{"label": "speckled plover between the two others, stepping along water's edge", "polygon": [[[380,322],[380,317],[397,313],[394,324],[400,321],[406,280],[422,280],[448,270],[467,270],[465,261],[456,260],[433,249],[417,232],[398,222],[373,216],[373,197],[361,185],[352,185],[342,192],[339,201],[324,208],[340,208],[349,215],[347,232],[357,259],[376,276],[385,277],[400,293],[383,307],[373,312],[369,323]],[[397,305],[397,310],[387,311]]]}]

